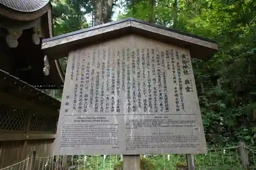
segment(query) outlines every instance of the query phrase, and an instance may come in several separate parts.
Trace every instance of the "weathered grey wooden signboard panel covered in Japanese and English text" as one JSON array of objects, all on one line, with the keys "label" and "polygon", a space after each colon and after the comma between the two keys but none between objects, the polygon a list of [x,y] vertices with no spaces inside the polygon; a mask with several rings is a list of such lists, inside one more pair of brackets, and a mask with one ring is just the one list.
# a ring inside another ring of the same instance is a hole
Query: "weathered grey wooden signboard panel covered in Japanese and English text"
[{"label": "weathered grey wooden signboard panel covered in Japanese and English text", "polygon": [[188,50],[129,35],[70,52],[54,154],[206,152]]}]

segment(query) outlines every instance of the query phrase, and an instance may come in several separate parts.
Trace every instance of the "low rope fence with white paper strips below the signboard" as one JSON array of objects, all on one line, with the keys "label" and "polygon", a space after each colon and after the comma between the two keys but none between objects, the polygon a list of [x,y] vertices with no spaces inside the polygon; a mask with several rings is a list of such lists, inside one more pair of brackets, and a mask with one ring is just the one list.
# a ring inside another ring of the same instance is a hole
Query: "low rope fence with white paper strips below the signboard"
[{"label": "low rope fence with white paper strips below the signboard", "polygon": [[[121,170],[122,155],[70,155],[27,158],[0,170]],[[186,156],[182,154],[141,155],[141,170],[186,169]],[[256,169],[256,150],[246,145],[208,149],[207,154],[194,155],[195,169],[248,170]],[[147,163],[145,163],[147,162]],[[245,164],[244,164],[245,163]]]}]

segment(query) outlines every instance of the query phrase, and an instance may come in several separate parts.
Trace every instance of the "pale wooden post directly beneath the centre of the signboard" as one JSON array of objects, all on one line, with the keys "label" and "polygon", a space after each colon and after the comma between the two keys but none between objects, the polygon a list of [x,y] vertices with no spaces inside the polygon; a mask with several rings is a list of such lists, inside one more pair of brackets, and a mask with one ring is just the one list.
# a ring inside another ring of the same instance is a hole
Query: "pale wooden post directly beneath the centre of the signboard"
[{"label": "pale wooden post directly beneath the centre of the signboard", "polygon": [[140,155],[123,155],[123,170],[140,170]]}]

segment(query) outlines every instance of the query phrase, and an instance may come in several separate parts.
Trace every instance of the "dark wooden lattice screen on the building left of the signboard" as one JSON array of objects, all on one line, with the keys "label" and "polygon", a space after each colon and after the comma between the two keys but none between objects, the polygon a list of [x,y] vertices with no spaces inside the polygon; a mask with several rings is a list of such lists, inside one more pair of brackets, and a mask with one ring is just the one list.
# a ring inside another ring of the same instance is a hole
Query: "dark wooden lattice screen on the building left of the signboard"
[{"label": "dark wooden lattice screen on the building left of the signboard", "polygon": [[0,104],[0,131],[3,133],[55,133],[57,116],[57,114],[53,116]]}]

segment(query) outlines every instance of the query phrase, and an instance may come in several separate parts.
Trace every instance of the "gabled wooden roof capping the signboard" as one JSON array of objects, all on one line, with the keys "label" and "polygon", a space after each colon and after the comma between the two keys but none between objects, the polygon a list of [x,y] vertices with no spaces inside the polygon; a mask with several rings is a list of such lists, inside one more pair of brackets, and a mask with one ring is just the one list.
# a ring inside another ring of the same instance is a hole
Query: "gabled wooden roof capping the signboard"
[{"label": "gabled wooden roof capping the signboard", "polygon": [[[68,56],[78,48],[108,41],[127,34],[137,34],[167,44],[184,47],[192,58],[208,60],[218,50],[217,42],[183,31],[170,29],[147,21],[127,18],[68,34],[44,39],[42,50],[51,59]],[[61,50],[59,50],[61,49]],[[203,53],[199,53],[202,52]]]}]

